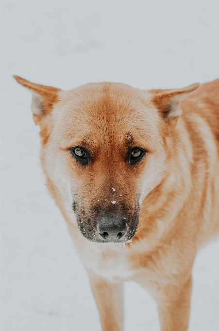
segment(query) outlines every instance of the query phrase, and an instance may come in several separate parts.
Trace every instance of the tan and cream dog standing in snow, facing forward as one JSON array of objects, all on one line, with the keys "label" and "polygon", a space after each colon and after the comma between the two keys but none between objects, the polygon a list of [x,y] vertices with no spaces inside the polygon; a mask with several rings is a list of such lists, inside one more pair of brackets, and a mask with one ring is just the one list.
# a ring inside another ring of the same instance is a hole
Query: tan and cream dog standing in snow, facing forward
[{"label": "tan and cream dog standing in snow, facing forward", "polygon": [[183,89],[90,83],[33,94],[46,185],[89,276],[102,331],[124,328],[125,281],[186,331],[197,252],[219,233],[219,79]]}]

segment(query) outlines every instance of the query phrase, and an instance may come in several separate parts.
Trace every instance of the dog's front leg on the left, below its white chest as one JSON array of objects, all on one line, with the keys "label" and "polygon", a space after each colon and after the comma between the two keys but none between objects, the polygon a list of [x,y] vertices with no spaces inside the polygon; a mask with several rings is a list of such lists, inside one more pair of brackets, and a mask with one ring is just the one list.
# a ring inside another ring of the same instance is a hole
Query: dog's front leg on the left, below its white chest
[{"label": "dog's front leg on the left, below its white chest", "polygon": [[112,283],[87,270],[100,314],[102,331],[124,330],[124,284]]}]

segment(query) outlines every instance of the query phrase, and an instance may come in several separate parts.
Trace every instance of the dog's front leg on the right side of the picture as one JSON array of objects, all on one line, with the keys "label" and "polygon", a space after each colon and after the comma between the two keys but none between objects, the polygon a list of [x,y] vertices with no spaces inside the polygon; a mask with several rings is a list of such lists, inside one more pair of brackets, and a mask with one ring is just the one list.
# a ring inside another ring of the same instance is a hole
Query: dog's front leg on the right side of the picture
[{"label": "dog's front leg on the right side of the picture", "polygon": [[180,286],[169,285],[158,296],[161,331],[187,331],[190,314],[192,277]]}]

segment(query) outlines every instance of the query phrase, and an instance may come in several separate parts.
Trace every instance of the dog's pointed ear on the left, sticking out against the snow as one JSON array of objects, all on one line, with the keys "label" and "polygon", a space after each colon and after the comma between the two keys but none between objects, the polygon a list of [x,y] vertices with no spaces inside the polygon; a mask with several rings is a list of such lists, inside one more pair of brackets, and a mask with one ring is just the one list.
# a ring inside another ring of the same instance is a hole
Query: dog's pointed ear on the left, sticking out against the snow
[{"label": "dog's pointed ear on the left, sticking out against the snow", "polygon": [[46,115],[51,114],[54,104],[58,101],[58,92],[62,90],[51,86],[34,84],[15,75],[13,77],[17,80],[17,83],[32,92],[31,110],[33,112],[34,123],[40,126],[42,119]]}]

